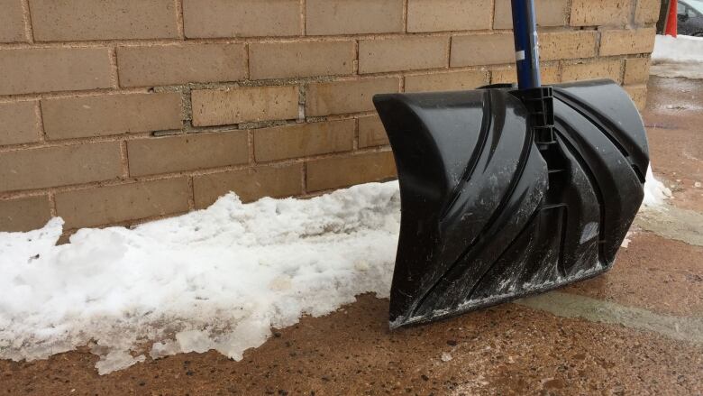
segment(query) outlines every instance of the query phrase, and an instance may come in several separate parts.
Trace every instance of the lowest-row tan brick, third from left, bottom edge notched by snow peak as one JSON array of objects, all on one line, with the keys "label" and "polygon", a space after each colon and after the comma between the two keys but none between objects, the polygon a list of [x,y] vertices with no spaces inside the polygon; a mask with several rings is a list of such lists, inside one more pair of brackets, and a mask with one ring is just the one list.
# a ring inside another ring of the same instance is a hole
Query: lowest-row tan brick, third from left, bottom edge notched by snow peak
[{"label": "lowest-row tan brick, third from left, bottom edge notched by snow peak", "polygon": [[242,202],[251,202],[263,197],[283,198],[299,195],[302,187],[303,164],[294,163],[285,167],[265,167],[248,170],[232,170],[223,173],[196,176],[193,189],[196,208],[210,205],[234,191]]}]

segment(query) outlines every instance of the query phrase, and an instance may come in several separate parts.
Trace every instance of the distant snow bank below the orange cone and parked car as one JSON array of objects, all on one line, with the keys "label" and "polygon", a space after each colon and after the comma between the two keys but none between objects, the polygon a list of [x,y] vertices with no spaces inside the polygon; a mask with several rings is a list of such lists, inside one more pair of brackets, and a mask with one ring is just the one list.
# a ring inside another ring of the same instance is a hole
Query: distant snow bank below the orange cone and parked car
[{"label": "distant snow bank below the orange cone and parked car", "polygon": [[703,78],[703,37],[657,35],[650,72],[661,77]]}]

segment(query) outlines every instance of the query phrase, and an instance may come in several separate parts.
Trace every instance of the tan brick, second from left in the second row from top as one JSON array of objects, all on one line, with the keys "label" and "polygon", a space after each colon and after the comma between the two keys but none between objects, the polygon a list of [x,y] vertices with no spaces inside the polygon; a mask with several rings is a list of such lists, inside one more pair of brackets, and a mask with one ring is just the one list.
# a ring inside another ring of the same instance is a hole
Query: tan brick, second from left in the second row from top
[{"label": "tan brick, second from left in the second row from top", "polygon": [[117,49],[120,85],[153,87],[247,78],[242,44],[182,44]]}]

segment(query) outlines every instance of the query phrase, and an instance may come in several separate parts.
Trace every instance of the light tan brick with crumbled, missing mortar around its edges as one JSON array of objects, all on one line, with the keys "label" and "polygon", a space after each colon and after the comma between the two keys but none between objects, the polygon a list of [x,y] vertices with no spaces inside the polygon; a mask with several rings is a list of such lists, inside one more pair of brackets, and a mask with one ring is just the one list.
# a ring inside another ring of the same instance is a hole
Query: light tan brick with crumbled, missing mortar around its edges
[{"label": "light tan brick with crumbled, missing mortar around its edges", "polygon": [[298,115],[297,87],[195,90],[191,97],[196,126],[292,120]]}]

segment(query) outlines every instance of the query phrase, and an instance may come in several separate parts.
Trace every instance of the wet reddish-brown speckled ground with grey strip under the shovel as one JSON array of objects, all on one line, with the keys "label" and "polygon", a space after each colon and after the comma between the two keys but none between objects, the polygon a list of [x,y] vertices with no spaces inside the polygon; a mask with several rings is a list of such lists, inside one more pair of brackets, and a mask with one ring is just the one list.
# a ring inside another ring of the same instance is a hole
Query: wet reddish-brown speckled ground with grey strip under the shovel
[{"label": "wet reddish-brown speckled ground with grey strip under the shovel", "polygon": [[640,216],[604,276],[394,333],[388,300],[361,296],[242,362],[176,355],[99,376],[87,352],[0,361],[0,394],[703,394],[702,92],[652,78],[644,120],[673,207]]}]

